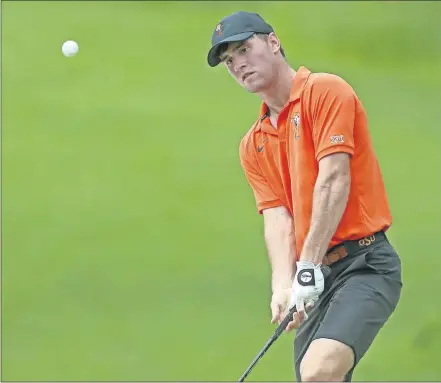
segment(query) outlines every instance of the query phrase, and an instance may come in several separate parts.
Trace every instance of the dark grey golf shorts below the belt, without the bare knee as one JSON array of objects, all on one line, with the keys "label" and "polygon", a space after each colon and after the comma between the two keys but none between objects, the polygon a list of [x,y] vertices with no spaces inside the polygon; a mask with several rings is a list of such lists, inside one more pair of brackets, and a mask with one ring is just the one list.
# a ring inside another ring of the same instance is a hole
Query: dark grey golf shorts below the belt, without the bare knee
[{"label": "dark grey golf shorts below the belt, without the bare knee", "polygon": [[330,265],[325,290],[296,331],[294,365],[300,363],[315,339],[328,338],[352,348],[355,366],[395,310],[401,295],[401,261],[384,234],[379,240]]}]

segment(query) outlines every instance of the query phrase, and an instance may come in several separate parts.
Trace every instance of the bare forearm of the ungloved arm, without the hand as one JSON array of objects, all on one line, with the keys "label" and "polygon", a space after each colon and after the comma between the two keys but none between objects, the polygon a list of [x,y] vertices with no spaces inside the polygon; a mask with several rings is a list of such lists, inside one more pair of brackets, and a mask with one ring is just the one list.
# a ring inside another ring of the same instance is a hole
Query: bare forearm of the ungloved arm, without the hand
[{"label": "bare forearm of the ungloved arm, without the hand", "polygon": [[272,290],[291,288],[296,266],[296,242],[292,217],[287,210],[265,220],[265,243],[272,269]]}]

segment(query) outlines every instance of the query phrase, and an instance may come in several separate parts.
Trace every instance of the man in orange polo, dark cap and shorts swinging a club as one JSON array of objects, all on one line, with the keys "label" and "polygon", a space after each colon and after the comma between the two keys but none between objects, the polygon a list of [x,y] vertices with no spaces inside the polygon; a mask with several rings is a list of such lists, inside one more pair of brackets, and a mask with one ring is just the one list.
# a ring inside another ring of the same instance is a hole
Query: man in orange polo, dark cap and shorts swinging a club
[{"label": "man in orange polo, dark cap and shorts swinging a club", "polygon": [[208,63],[262,100],[240,161],[264,219],[272,323],[298,311],[287,327],[297,380],[351,381],[402,287],[366,112],[340,77],[292,69],[254,13],[221,20]]}]

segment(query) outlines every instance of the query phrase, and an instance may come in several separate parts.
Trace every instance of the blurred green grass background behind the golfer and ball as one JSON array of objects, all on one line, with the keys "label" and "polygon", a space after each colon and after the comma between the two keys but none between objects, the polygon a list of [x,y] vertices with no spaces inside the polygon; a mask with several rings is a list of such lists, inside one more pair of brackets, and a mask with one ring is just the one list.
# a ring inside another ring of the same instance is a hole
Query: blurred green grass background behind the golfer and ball
[{"label": "blurred green grass background behind the golfer and ball", "polygon": [[[2,2],[2,381],[234,381],[272,334],[238,159],[260,100],[206,64],[239,9],[368,111],[404,288],[354,380],[441,379],[441,3],[20,1]],[[250,380],[295,379],[292,336]]]}]

